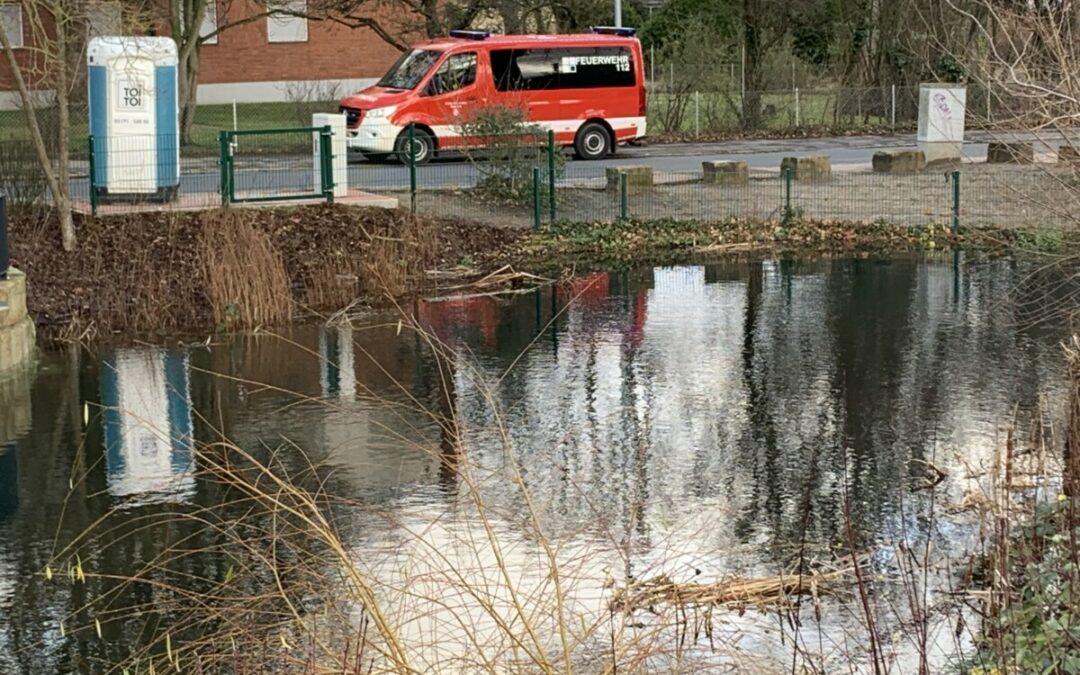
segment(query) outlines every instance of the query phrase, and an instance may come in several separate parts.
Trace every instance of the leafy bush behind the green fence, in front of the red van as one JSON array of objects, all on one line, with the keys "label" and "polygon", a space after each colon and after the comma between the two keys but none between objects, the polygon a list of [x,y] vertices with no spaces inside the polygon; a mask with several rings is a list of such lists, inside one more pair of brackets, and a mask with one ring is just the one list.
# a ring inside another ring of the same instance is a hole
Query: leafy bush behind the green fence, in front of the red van
[{"label": "leafy bush behind the green fence, in front of the red van", "polygon": [[[546,199],[550,185],[548,132],[530,123],[523,109],[487,107],[473,113],[459,129],[467,139],[465,151],[477,172],[474,193],[498,204],[527,205],[532,202],[532,170],[540,170],[540,195]],[[566,157],[553,149],[555,177],[562,176]]]}]

